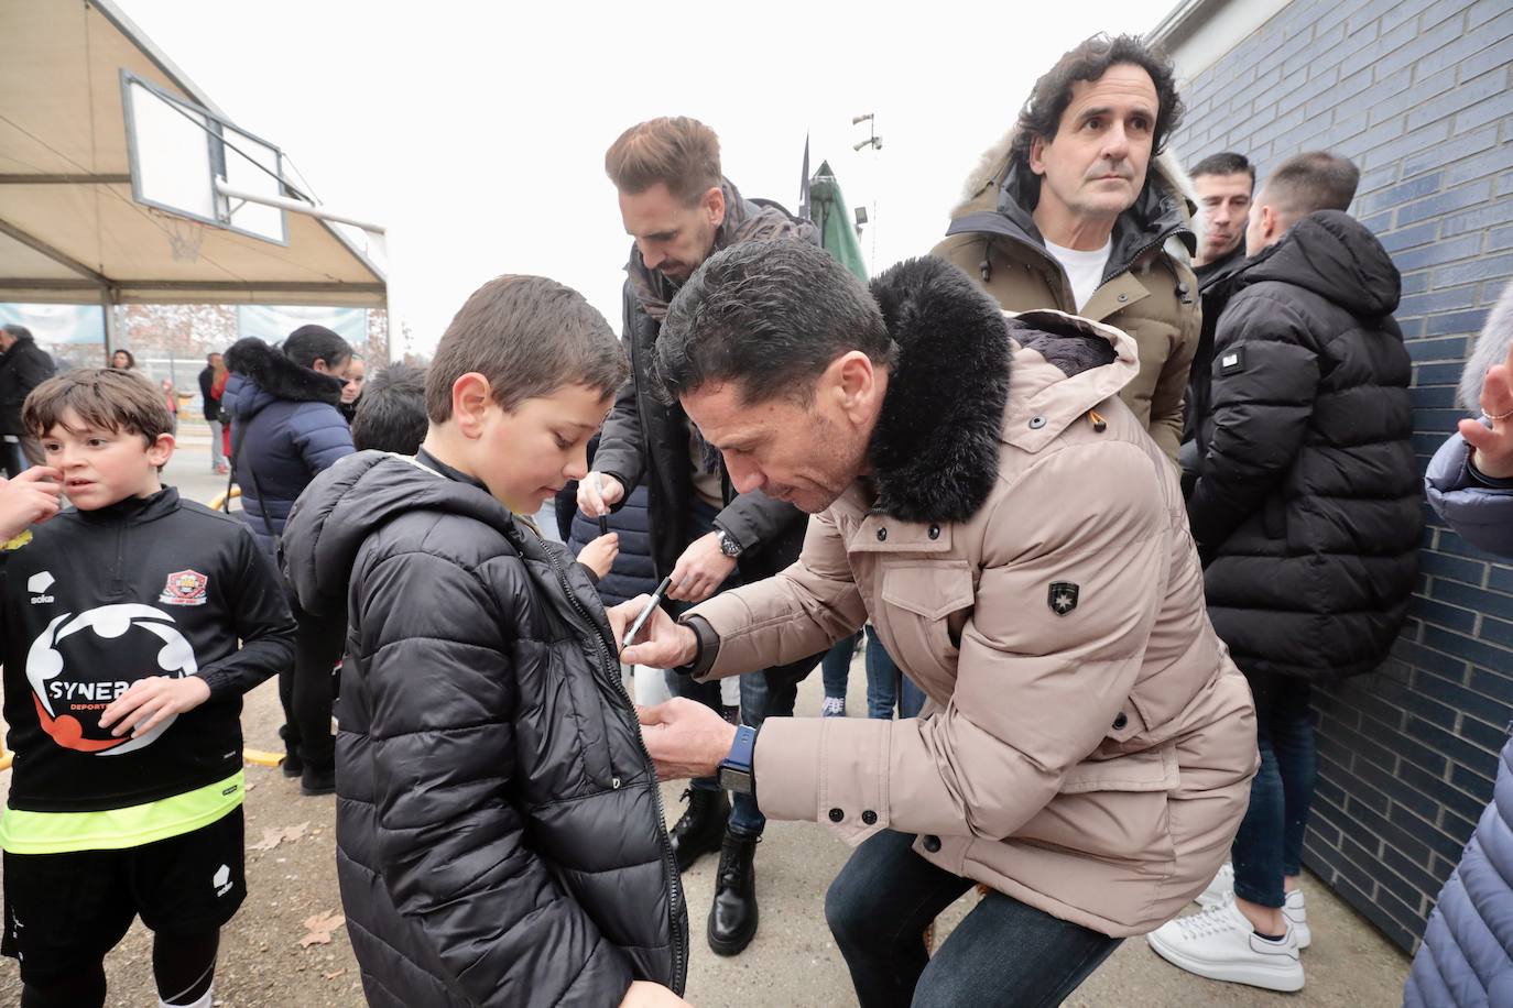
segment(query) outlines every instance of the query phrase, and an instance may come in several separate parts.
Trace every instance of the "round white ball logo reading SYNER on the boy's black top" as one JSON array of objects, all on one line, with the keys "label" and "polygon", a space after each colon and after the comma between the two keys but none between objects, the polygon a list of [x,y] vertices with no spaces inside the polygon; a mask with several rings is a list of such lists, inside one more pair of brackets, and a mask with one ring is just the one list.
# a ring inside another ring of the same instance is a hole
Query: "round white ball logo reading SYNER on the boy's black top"
[{"label": "round white ball logo reading SYNER on the boy's black top", "polygon": [[[103,668],[110,669],[104,677],[94,673]],[[135,739],[101,728],[100,712],[132,683],[198,671],[194,648],[174,627],[174,618],[136,603],[98,606],[77,617],[65,612],[47,624],[26,656],[26,679],[42,730],[57,745],[94,756],[148,747],[177,719],[169,716]]]}]

